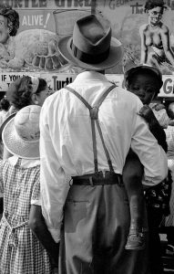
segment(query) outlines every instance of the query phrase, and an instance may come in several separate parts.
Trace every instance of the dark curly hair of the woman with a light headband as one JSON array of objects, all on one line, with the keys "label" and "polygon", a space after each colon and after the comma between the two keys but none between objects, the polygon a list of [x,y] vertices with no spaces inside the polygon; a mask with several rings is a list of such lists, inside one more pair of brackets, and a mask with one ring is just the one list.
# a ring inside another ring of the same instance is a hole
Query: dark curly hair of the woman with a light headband
[{"label": "dark curly hair of the woman with a light headband", "polygon": [[[36,94],[46,88],[46,80],[39,78],[39,85]],[[6,92],[7,100],[9,100],[16,109],[21,110],[31,104],[31,96],[33,94],[32,80],[29,76],[23,76],[11,83]]]}]

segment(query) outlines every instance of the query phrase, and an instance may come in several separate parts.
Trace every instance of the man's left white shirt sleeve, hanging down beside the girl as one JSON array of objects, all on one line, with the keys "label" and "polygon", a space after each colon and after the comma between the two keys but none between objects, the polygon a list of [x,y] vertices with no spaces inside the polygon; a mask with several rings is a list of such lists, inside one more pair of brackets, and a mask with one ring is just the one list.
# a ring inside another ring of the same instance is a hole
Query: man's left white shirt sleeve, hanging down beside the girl
[{"label": "man's left white shirt sleeve, hanging down beside the girl", "polygon": [[60,166],[51,141],[45,105],[40,118],[40,186],[41,206],[46,225],[56,242],[59,241],[66,200],[67,175]]}]

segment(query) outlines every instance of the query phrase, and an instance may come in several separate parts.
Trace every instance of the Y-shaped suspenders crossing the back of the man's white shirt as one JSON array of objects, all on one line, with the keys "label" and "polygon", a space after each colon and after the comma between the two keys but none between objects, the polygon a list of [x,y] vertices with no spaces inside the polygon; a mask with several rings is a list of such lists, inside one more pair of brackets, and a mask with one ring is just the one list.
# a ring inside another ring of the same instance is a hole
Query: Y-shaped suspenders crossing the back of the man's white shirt
[{"label": "Y-shaped suspenders crossing the back of the man's white shirt", "polygon": [[110,86],[106,91],[105,93],[101,96],[101,98],[97,101],[97,104],[94,106],[94,107],[91,107],[89,105],[89,103],[87,102],[87,100],[85,100],[80,94],[77,93],[76,90],[73,90],[69,87],[66,87],[65,89],[72,92],[73,94],[75,94],[77,96],[77,98],[79,100],[81,100],[87,107],[87,109],[89,110],[90,112],[90,117],[91,117],[91,129],[92,129],[92,140],[93,140],[93,153],[94,153],[94,165],[95,165],[95,173],[98,172],[98,167],[97,167],[97,142],[96,142],[96,129],[95,129],[95,121],[96,121],[96,124],[97,124],[97,130],[99,132],[99,136],[100,136],[100,139],[101,139],[101,142],[102,142],[102,145],[103,145],[103,148],[104,148],[104,151],[106,153],[106,156],[107,156],[107,163],[108,163],[108,166],[109,166],[109,170],[110,172],[114,172],[114,169],[113,169],[113,166],[112,166],[112,163],[111,163],[111,160],[110,160],[110,156],[109,156],[109,153],[107,151],[107,147],[105,145],[105,142],[104,142],[104,139],[103,139],[103,134],[101,132],[101,128],[100,128],[100,125],[99,125],[99,121],[98,121],[98,110],[99,110],[99,107],[100,105],[102,104],[102,102],[105,100],[105,98],[107,97],[107,94],[115,89],[116,86],[115,85],[112,85]]}]

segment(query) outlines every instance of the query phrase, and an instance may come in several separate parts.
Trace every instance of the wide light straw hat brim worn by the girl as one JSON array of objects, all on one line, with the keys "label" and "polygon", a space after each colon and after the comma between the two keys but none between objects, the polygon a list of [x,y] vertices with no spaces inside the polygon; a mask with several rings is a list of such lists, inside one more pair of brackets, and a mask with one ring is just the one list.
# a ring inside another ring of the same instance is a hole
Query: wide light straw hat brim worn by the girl
[{"label": "wide light straw hat brim worn by the girl", "polygon": [[39,140],[36,142],[26,142],[21,139],[15,131],[15,117],[5,124],[2,134],[6,149],[17,157],[24,159],[38,159]]}]

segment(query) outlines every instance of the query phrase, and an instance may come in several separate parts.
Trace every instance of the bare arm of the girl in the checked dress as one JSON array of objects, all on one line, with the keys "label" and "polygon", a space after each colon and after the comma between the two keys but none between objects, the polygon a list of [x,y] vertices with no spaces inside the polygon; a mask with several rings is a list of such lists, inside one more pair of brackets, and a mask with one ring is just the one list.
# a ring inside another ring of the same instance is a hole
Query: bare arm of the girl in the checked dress
[{"label": "bare arm of the girl in the checked dress", "polygon": [[33,231],[42,246],[46,248],[47,253],[54,259],[56,266],[58,265],[59,244],[51,236],[46,227],[45,219],[42,215],[40,205],[31,205],[28,227]]}]

